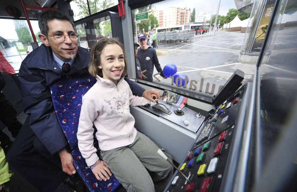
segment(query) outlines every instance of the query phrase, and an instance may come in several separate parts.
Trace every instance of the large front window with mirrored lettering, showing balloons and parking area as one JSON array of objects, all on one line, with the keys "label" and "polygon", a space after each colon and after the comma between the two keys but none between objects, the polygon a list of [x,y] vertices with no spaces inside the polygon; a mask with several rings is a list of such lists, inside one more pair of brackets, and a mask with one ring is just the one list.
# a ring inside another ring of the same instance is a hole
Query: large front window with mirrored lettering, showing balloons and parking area
[{"label": "large front window with mirrored lettering, showing balloons and parking area", "polygon": [[[142,76],[138,81],[209,98],[218,93],[236,69],[245,73],[243,84],[251,82],[257,61],[255,57],[258,56],[252,57],[253,60],[239,59],[252,10],[244,12],[245,9],[237,7],[234,1],[218,4],[218,0],[166,0],[133,9],[134,40],[143,47],[138,36],[143,31],[148,32],[147,46],[151,47],[147,50],[146,47],[138,48],[141,70],[146,70],[142,74],[148,76]],[[176,17],[168,19],[169,15]],[[150,49],[156,50],[156,56],[150,55]],[[242,55],[242,58],[249,57]],[[166,66],[169,63],[176,69]]]}]

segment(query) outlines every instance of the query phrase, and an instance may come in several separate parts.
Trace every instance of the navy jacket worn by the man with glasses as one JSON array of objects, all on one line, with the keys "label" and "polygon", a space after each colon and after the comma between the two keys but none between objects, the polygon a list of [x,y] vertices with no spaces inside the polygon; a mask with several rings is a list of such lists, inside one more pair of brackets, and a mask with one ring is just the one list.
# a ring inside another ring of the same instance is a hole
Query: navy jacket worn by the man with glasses
[{"label": "navy jacket worn by the man with glasses", "polygon": [[[22,62],[19,79],[24,113],[31,115],[30,127],[51,154],[63,149],[68,143],[57,120],[51,99],[50,86],[66,74],[57,66],[50,47],[42,44]],[[88,73],[91,53],[78,47],[74,67],[69,76]],[[141,96],[144,88],[125,77],[134,95]]]}]

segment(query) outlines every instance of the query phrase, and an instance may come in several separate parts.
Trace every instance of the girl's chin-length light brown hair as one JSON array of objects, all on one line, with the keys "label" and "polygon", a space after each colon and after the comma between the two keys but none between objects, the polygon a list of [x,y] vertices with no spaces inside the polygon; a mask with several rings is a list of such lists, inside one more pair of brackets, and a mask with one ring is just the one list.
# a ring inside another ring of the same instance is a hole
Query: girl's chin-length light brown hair
[{"label": "girl's chin-length light brown hair", "polygon": [[91,51],[91,61],[89,64],[89,73],[94,77],[96,77],[96,75],[99,75],[99,77],[103,77],[102,70],[99,69],[98,66],[100,66],[100,64],[101,64],[101,58],[100,58],[101,53],[104,50],[104,48],[109,44],[117,44],[123,50],[125,67],[124,67],[123,73],[121,75],[121,79],[122,79],[127,74],[128,65],[127,65],[127,56],[126,56],[125,48],[124,48],[124,45],[119,41],[119,38],[104,38],[104,39],[97,41],[97,43],[94,44],[94,47]]}]

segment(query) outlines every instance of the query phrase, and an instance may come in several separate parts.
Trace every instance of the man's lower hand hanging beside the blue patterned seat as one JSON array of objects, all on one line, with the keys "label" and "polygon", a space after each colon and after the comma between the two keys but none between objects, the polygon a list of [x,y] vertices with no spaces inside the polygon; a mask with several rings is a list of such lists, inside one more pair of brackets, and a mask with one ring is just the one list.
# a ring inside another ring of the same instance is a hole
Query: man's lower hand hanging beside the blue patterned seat
[{"label": "man's lower hand hanging beside the blue patterned seat", "polygon": [[76,170],[73,166],[72,155],[68,153],[66,148],[63,148],[61,151],[58,152],[58,154],[61,158],[63,172],[67,173],[68,175],[75,174]]}]

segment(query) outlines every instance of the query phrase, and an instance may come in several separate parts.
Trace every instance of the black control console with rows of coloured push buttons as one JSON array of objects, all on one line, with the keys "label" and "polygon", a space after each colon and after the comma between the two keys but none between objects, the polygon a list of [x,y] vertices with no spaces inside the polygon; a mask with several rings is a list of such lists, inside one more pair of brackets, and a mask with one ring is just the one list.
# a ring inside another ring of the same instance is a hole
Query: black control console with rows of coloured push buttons
[{"label": "black control console with rows of coloured push buttons", "polygon": [[176,171],[165,192],[220,190],[245,87],[213,110],[200,128],[199,135],[178,167],[190,182]]}]

